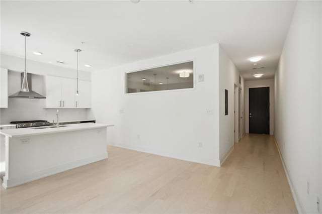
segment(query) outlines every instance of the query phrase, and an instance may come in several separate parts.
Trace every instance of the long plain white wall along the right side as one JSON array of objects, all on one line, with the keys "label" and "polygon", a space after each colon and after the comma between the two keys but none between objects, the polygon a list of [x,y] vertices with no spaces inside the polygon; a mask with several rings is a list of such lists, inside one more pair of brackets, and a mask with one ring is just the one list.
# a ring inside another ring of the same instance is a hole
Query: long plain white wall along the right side
[{"label": "long plain white wall along the right side", "polygon": [[300,213],[321,199],[321,14],[321,2],[297,3],[275,74],[274,134]]}]

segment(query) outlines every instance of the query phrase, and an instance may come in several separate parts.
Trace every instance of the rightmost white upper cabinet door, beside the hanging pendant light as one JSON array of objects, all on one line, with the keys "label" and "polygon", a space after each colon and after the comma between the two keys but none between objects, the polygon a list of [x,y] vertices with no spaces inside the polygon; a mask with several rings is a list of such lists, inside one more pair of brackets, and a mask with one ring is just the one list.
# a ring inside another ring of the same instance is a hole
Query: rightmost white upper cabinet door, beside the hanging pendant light
[{"label": "rightmost white upper cabinet door, beside the hanging pendant light", "polygon": [[78,80],[79,95],[75,96],[76,108],[91,108],[91,82]]}]

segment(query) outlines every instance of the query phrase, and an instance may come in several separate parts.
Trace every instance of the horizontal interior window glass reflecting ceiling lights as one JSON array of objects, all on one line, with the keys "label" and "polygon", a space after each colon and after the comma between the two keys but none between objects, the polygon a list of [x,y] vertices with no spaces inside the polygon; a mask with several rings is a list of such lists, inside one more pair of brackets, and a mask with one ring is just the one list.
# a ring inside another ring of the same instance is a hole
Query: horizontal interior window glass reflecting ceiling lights
[{"label": "horizontal interior window glass reflecting ceiling lights", "polygon": [[193,88],[193,61],[126,73],[126,93]]}]

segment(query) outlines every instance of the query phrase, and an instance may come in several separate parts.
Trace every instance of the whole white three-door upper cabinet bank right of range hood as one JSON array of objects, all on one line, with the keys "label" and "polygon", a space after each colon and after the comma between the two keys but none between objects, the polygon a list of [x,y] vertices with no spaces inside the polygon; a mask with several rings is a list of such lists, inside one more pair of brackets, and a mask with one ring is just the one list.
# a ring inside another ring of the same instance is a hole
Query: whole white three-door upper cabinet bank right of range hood
[{"label": "whole white three-door upper cabinet bank right of range hood", "polygon": [[78,90],[76,79],[46,76],[46,108],[91,108],[91,82],[78,80]]}]

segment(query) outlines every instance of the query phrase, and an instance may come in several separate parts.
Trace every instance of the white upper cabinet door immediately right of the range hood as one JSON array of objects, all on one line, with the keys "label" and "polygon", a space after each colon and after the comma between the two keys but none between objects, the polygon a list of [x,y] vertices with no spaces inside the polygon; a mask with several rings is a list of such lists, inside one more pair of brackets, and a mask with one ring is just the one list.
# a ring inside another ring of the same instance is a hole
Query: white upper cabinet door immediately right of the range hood
[{"label": "white upper cabinet door immediately right of the range hood", "polygon": [[61,77],[46,76],[46,108],[61,107]]}]

